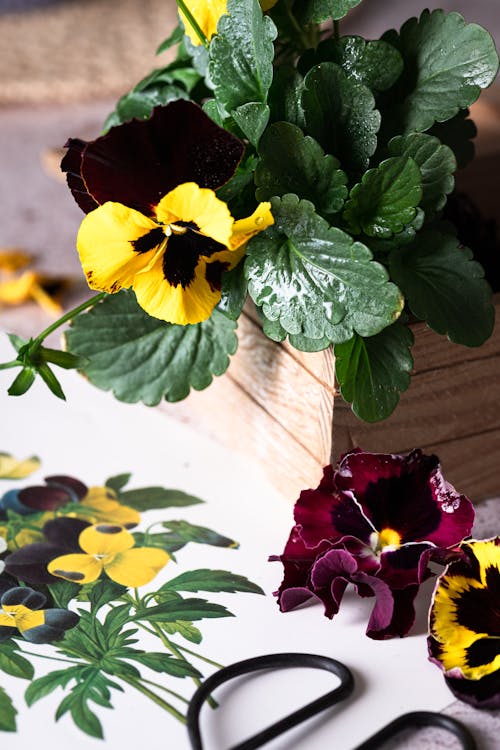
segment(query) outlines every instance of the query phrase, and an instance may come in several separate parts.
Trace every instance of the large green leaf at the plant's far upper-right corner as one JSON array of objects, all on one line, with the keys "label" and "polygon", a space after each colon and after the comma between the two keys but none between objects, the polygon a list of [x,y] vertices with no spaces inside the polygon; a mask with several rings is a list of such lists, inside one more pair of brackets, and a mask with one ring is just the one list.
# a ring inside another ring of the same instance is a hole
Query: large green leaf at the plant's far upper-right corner
[{"label": "large green leaf at the plant's far upper-right corner", "polygon": [[405,69],[392,100],[389,118],[397,133],[428,130],[434,122],[454,117],[470,106],[498,70],[490,34],[459,13],[424,10],[409,19],[399,35],[383,37],[403,55]]}]

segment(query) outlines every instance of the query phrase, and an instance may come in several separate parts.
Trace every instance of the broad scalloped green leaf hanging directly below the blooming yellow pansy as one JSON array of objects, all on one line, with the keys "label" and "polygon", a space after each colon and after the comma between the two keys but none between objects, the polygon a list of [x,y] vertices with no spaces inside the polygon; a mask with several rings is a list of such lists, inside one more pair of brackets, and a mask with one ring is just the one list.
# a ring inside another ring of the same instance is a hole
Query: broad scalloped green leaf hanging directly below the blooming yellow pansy
[{"label": "broad scalloped green leaf hanging directly below the blooming yellow pansy", "polygon": [[130,291],[111,294],[66,333],[68,349],[86,357],[83,373],[127,403],[155,406],[202,390],[229,366],[238,342],[235,324],[214,310],[196,325],[172,325],[150,317]]}]

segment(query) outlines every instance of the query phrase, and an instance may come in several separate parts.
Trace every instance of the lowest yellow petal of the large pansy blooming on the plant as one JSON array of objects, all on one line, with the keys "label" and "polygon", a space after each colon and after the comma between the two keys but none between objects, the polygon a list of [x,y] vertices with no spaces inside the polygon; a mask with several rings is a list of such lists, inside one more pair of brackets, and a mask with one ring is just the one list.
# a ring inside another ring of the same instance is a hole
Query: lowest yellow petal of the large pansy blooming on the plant
[{"label": "lowest yellow petal of the large pansy blooming on the plant", "polygon": [[207,282],[205,267],[206,261],[200,259],[189,286],[174,287],[165,279],[162,259],[158,258],[153,268],[139,274],[134,282],[137,302],[153,318],[168,323],[201,323],[210,317],[221,297],[220,290],[212,290]]}]

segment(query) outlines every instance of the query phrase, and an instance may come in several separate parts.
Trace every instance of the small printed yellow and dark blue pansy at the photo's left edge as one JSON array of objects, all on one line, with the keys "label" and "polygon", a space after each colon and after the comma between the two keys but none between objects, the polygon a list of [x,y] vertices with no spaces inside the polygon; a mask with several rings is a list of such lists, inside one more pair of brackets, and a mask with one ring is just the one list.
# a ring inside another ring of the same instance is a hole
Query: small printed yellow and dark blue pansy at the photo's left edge
[{"label": "small printed yellow and dark blue pansy at the photo's left edge", "polygon": [[13,586],[0,599],[0,642],[21,634],[31,643],[52,643],[73,628],[79,617],[67,609],[44,609],[47,600],[28,586]]}]

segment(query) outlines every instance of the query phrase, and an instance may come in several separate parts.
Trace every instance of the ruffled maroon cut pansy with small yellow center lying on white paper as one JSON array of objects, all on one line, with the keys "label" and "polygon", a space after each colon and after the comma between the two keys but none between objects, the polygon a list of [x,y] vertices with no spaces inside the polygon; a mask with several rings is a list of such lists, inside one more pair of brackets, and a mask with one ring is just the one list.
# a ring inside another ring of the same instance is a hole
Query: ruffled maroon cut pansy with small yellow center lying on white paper
[{"label": "ruffled maroon cut pansy with small yellow center lying on white paper", "polygon": [[315,597],[331,618],[352,583],[376,597],[367,635],[382,639],[408,633],[430,557],[470,534],[474,510],[444,480],[436,456],[356,449],[301,493],[294,516],[284,553],[271,558],[284,566],[280,609]]}]

